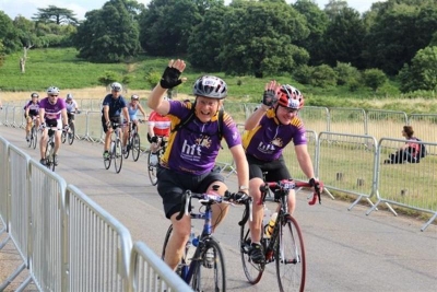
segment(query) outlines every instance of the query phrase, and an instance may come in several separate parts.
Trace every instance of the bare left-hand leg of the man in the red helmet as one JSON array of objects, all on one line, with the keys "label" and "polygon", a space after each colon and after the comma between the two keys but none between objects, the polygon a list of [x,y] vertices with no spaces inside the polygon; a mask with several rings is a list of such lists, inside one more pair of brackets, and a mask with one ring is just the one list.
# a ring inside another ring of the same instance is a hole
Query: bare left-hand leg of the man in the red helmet
[{"label": "bare left-hand leg of the man in the red helmet", "polygon": [[264,208],[258,202],[261,199],[261,190],[260,187],[264,182],[259,177],[253,177],[249,180],[249,191],[250,196],[253,198],[252,203],[252,221],[249,222],[250,226],[250,237],[252,243],[259,243],[261,241],[261,222],[262,217],[264,215]]}]

